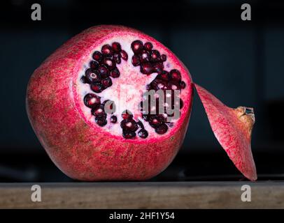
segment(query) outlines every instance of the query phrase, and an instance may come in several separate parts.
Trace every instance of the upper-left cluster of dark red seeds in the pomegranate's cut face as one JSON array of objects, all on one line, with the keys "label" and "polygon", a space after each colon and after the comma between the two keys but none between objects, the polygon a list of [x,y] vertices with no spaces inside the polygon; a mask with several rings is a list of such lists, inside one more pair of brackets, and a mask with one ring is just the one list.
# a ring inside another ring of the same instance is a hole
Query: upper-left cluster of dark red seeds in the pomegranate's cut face
[{"label": "upper-left cluster of dark red seeds in the pomegranate's cut face", "polygon": [[101,47],[101,52],[94,52],[92,58],[94,61],[90,62],[90,68],[85,71],[81,80],[90,84],[95,93],[101,93],[113,84],[111,77],[120,77],[116,64],[120,64],[121,59],[127,61],[128,55],[121,49],[120,43],[114,42],[112,45],[106,44]]}]

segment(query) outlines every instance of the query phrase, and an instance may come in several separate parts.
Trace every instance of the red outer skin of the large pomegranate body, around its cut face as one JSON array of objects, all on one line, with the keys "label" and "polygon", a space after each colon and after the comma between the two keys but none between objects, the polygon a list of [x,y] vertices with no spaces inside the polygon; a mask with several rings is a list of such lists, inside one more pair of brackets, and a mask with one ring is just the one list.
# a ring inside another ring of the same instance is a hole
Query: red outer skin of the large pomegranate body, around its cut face
[{"label": "red outer skin of the large pomegranate body, around its cut face", "polygon": [[[36,135],[51,160],[64,174],[87,181],[146,180],[163,171],[180,149],[192,109],[193,85],[190,72],[188,102],[180,126],[161,140],[147,144],[109,137],[88,125],[78,109],[73,94],[73,76],[78,63],[92,46],[111,33],[127,31],[144,35],[125,26],[94,26],[71,38],[37,68],[27,88],[27,114]],[[154,40],[152,39],[153,41]]]}]

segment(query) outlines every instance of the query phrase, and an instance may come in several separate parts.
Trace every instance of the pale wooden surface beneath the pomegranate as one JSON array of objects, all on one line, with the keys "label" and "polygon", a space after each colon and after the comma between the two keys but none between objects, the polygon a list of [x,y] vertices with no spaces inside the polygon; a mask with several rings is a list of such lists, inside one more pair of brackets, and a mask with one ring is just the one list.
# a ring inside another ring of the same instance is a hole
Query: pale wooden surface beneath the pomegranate
[{"label": "pale wooden surface beneath the pomegranate", "polygon": [[0,183],[0,208],[284,208],[284,182]]}]

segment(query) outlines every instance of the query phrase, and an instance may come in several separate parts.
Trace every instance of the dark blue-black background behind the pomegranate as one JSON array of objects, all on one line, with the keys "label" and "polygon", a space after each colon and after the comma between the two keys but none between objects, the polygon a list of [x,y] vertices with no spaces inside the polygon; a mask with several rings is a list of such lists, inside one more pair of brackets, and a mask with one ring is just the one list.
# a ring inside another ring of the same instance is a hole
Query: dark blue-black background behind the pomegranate
[{"label": "dark blue-black background behind the pomegranate", "polygon": [[[1,1],[0,182],[69,181],[39,144],[25,111],[31,73],[66,40],[97,24],[153,36],[189,68],[194,82],[230,107],[254,107],[259,179],[281,180],[284,108],[284,3],[281,1]],[[42,20],[31,20],[40,3]],[[241,20],[250,3],[252,20]],[[243,180],[222,150],[197,94],[183,148],[152,180]]]}]

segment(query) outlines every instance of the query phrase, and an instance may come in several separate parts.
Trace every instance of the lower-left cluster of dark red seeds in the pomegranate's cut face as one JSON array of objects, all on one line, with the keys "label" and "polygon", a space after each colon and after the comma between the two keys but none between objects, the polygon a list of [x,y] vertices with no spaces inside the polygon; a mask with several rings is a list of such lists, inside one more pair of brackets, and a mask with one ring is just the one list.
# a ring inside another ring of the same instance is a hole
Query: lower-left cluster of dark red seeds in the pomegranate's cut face
[{"label": "lower-left cluster of dark red seeds in the pomegranate's cut face", "polygon": [[[107,102],[108,104],[106,104]],[[108,111],[112,111],[111,113],[115,112],[115,104],[113,101],[105,100],[101,103],[101,98],[94,93],[87,93],[87,95],[85,95],[84,104],[85,106],[91,108],[91,113],[94,116],[94,121],[96,121],[99,126],[104,126],[108,123],[106,121],[106,105],[108,105]],[[116,116],[111,116],[110,121],[111,123],[116,123],[118,121],[118,118]]]}]

